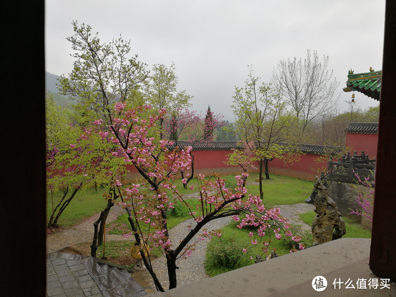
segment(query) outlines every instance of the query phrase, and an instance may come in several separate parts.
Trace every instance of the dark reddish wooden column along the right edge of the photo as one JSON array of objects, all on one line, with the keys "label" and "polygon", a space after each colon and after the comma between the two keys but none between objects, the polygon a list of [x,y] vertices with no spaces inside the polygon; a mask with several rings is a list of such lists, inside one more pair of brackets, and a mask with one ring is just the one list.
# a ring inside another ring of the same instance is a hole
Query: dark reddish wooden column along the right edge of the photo
[{"label": "dark reddish wooden column along the right edge of the photo", "polygon": [[396,2],[386,1],[370,269],[396,281]]}]

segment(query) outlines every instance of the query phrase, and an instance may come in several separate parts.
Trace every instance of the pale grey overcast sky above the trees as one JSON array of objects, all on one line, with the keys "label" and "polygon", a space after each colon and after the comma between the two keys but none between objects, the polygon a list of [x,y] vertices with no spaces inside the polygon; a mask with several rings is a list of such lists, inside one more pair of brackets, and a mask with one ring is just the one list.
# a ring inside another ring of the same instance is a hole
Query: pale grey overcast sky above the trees
[{"label": "pale grey overcast sky above the trees", "polygon": [[[348,69],[382,68],[385,0],[46,0],[46,70],[67,75],[73,59],[66,37],[71,22],[89,24],[102,42],[122,34],[148,64],[176,65],[179,89],[194,96],[197,110],[233,120],[235,86],[243,87],[247,65],[269,82],[283,59],[306,50],[330,56],[340,82],[339,106]],[[357,107],[377,101],[355,93]]]}]

